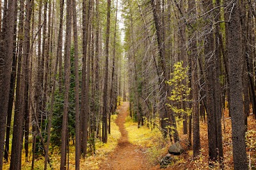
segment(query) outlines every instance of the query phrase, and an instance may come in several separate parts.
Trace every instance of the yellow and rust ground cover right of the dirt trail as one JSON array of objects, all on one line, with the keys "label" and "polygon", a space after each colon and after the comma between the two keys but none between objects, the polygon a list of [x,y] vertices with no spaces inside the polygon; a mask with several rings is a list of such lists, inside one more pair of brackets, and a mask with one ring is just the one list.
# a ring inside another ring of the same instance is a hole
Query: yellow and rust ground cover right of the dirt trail
[{"label": "yellow and rust ground cover right of the dirt trail", "polygon": [[[223,134],[223,169],[234,169],[233,153],[232,153],[232,128],[231,120],[228,112],[225,111],[225,122],[222,122]],[[225,129],[224,129],[225,123]],[[170,139],[163,139],[160,130],[154,128],[151,130],[147,126],[138,128],[138,124],[131,118],[127,118],[125,128],[128,132],[129,141],[133,144],[140,145],[145,148],[148,161],[154,166],[153,169],[160,169],[159,161],[168,153],[168,147],[172,144]],[[256,169],[256,121],[252,116],[248,117],[248,132],[246,133],[246,151],[248,155],[249,169]],[[182,134],[182,123],[177,122],[177,130],[179,131],[181,144],[188,141],[188,135]],[[169,169],[220,169],[219,162],[209,162],[208,157],[208,137],[207,122],[200,121],[200,143],[201,153],[198,157],[193,158],[193,149],[187,148],[184,153],[179,156],[173,156],[175,163],[166,168]],[[209,167],[211,163],[211,167]]]}]

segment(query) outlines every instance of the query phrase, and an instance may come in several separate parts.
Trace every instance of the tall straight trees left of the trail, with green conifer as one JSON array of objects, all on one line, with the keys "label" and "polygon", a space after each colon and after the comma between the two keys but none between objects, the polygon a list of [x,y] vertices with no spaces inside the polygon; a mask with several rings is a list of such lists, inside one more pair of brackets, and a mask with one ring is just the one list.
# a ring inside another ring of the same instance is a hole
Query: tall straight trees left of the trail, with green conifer
[{"label": "tall straight trees left of the trail, with green conifer", "polygon": [[76,141],[79,169],[79,158],[95,153],[96,141],[107,142],[109,116],[127,91],[116,5],[4,1],[0,169],[3,160],[21,169],[22,150],[26,160],[32,150],[31,169],[42,155],[47,169],[50,151],[60,150],[65,169],[70,141]]}]

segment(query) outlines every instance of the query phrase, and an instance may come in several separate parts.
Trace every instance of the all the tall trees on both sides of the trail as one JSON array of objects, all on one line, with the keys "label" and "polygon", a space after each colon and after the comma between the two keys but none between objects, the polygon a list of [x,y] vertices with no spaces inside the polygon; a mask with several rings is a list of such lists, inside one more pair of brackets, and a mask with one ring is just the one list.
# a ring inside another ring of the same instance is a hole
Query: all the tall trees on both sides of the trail
[{"label": "all the tall trees on both sides of the trail", "polygon": [[180,141],[181,123],[194,157],[200,119],[207,120],[209,162],[221,168],[228,109],[234,168],[247,169],[250,104],[256,118],[255,7],[250,0],[4,0],[0,169],[4,161],[21,169],[29,147],[31,169],[42,156],[47,169],[54,146],[66,169],[70,141],[79,169],[97,141],[108,142],[121,100],[129,100],[138,128],[159,128],[172,142]]}]

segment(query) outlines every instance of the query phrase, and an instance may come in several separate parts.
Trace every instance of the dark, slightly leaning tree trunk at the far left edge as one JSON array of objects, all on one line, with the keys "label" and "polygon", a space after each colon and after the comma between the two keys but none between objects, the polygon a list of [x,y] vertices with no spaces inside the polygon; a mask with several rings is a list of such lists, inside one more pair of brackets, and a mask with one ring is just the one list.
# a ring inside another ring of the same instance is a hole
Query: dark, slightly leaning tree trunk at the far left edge
[{"label": "dark, slightly leaning tree trunk at the far left edge", "polygon": [[[7,2],[6,2],[7,3]],[[1,41],[4,45],[1,45],[0,58],[3,59],[3,67],[1,67],[1,82],[0,82],[0,169],[3,169],[3,153],[4,153],[4,134],[6,126],[6,116],[8,112],[8,101],[10,91],[10,80],[12,72],[12,59],[13,59],[13,33],[15,26],[15,6],[17,1],[8,1],[8,9],[6,8],[6,14],[3,19],[3,32],[1,34]],[[4,29],[4,25],[8,26],[8,29]]]}]

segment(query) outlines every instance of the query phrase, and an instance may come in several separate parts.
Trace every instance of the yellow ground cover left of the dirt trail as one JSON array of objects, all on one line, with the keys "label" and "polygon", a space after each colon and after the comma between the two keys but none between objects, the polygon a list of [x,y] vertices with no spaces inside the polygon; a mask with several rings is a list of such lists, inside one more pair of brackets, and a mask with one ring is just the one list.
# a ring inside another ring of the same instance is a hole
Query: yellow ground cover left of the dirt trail
[{"label": "yellow ground cover left of the dirt trail", "polygon": [[[80,169],[99,169],[99,164],[106,160],[106,156],[109,152],[115,150],[118,139],[121,137],[120,130],[115,123],[115,120],[118,115],[111,116],[111,134],[108,135],[108,143],[104,144],[101,141],[97,140],[95,144],[95,155],[87,155],[86,158],[80,159]],[[31,147],[30,147],[31,150]],[[50,158],[52,161],[52,168],[53,169],[60,169],[60,150],[55,148],[50,153]],[[22,169],[31,169],[31,162],[32,162],[32,153],[30,153],[28,161],[25,160],[25,153],[22,152]],[[3,169],[7,170],[10,167],[10,162],[4,164]],[[49,165],[48,165],[49,167]],[[68,154],[68,169],[75,169],[76,168],[76,148],[75,145],[70,142],[69,146],[69,154]],[[35,160],[35,167],[34,169],[44,169],[44,157],[38,157]],[[49,168],[47,168],[49,169]]]}]

